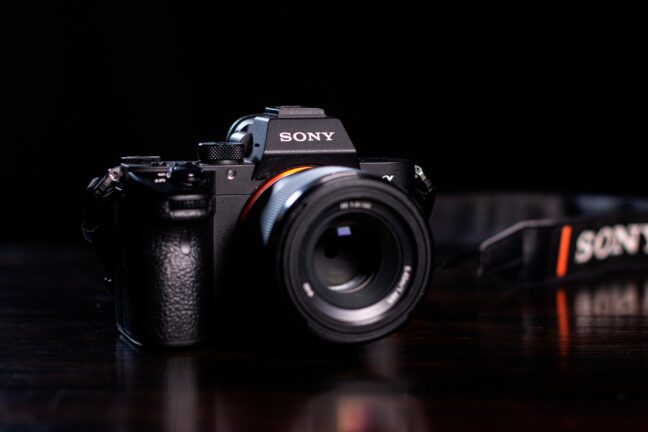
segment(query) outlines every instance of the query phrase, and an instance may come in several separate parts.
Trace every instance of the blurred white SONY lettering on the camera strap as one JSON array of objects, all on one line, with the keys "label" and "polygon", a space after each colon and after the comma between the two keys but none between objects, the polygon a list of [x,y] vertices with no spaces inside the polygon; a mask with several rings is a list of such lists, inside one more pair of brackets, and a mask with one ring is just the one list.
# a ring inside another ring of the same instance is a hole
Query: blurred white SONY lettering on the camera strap
[{"label": "blurred white SONY lettering on the camera strap", "polygon": [[639,253],[648,254],[648,223],[606,225],[599,230],[584,230],[578,235],[574,262],[587,264],[592,259],[604,261]]}]

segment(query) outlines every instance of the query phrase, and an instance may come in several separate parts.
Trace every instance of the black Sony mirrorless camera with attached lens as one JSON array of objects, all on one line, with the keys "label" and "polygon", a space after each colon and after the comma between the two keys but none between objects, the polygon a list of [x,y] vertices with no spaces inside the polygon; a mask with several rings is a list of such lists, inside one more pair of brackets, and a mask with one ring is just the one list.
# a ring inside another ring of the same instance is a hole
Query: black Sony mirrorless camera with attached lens
[{"label": "black Sony mirrorless camera with attached lens", "polygon": [[412,162],[360,159],[338,119],[292,106],[239,119],[198,154],[124,157],[88,186],[84,232],[131,341],[256,326],[363,342],[423,297],[434,193]]}]

